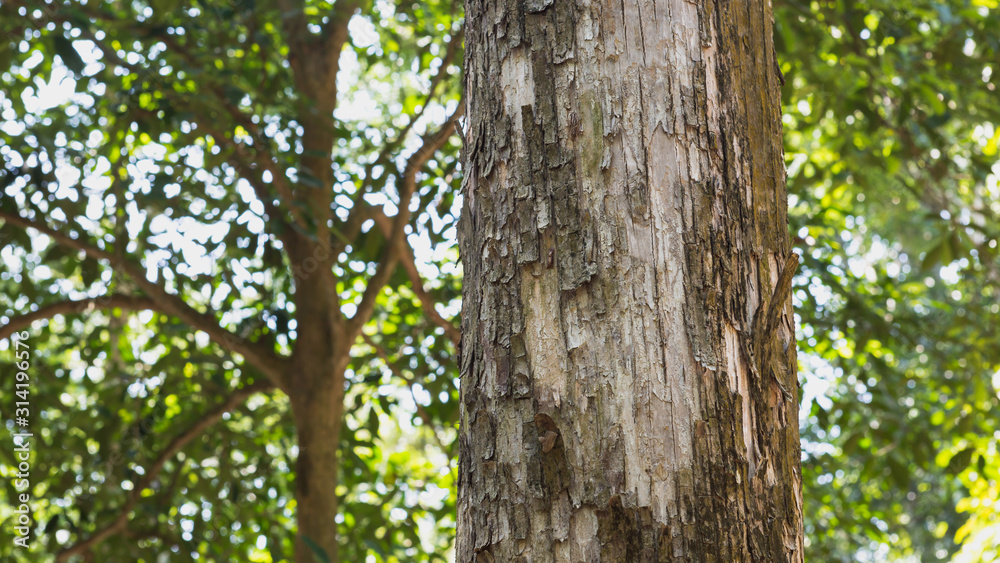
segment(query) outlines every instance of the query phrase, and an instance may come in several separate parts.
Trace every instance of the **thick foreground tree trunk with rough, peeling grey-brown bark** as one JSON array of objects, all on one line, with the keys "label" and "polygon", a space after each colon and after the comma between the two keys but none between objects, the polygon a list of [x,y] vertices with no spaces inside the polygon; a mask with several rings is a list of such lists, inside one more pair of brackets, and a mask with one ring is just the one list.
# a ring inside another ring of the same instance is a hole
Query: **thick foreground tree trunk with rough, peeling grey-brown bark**
[{"label": "thick foreground tree trunk with rough, peeling grey-brown bark", "polygon": [[466,22],[457,560],[802,561],[770,6]]}]

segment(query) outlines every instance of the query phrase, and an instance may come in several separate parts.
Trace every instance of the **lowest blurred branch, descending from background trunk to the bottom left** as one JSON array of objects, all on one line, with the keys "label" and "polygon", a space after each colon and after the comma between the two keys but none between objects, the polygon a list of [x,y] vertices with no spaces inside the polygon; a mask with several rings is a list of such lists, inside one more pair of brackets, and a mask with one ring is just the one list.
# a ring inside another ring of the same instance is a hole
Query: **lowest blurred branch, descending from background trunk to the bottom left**
[{"label": "lowest blurred branch, descending from background trunk to the bottom left", "polygon": [[128,497],[125,499],[125,504],[118,509],[118,516],[89,538],[79,541],[59,552],[59,554],[56,555],[56,562],[66,561],[74,555],[81,555],[111,536],[125,532],[128,527],[129,515],[141,498],[142,492],[152,485],[153,481],[156,480],[160,472],[163,470],[164,465],[166,465],[168,461],[173,459],[173,457],[176,456],[177,453],[180,452],[188,443],[190,443],[191,440],[194,440],[201,435],[202,432],[218,422],[222,418],[223,414],[239,406],[240,403],[245,401],[251,395],[261,391],[267,391],[271,387],[273,387],[273,385],[270,382],[259,381],[241,389],[237,389],[230,394],[221,405],[204,413],[186,430],[175,436],[167,447],[160,452],[156,459],[154,459],[148,467],[144,467],[146,472],[143,475],[143,478],[139,480],[139,482],[136,483],[129,492]]}]

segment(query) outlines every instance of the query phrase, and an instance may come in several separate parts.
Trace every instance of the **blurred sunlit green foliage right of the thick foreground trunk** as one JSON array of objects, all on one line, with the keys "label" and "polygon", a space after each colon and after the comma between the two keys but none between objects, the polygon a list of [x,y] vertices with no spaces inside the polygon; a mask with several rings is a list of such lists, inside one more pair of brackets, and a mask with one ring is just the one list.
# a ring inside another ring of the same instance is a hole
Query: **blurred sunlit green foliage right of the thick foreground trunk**
[{"label": "blurred sunlit green foliage right of the thick foreground trunk", "polygon": [[995,560],[998,4],[775,13],[809,559]]}]

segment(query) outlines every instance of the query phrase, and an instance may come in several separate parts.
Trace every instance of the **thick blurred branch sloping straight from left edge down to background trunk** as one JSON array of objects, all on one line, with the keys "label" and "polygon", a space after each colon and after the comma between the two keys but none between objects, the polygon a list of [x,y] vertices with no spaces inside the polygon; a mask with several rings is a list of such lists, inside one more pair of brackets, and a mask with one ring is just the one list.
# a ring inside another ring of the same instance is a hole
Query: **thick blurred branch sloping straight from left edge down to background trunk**
[{"label": "thick blurred branch sloping straight from left edge down to background trunk", "polygon": [[57,244],[83,252],[92,258],[108,261],[113,269],[119,270],[129,276],[156,304],[158,310],[177,317],[195,330],[205,332],[224,349],[236,352],[246,358],[247,361],[260,369],[276,386],[279,388],[282,386],[284,375],[287,371],[285,369],[286,361],[277,356],[273,349],[267,349],[264,346],[240,338],[223,328],[211,313],[198,312],[180,296],[168,293],[163,286],[150,281],[146,277],[145,269],[140,264],[136,264],[124,257],[116,256],[111,252],[102,250],[80,239],[73,238],[39,221],[22,217],[17,213],[0,210],[0,219],[22,228],[35,229],[54,240]]}]

